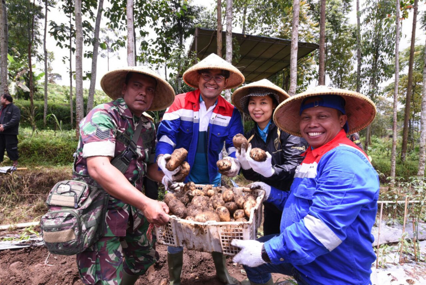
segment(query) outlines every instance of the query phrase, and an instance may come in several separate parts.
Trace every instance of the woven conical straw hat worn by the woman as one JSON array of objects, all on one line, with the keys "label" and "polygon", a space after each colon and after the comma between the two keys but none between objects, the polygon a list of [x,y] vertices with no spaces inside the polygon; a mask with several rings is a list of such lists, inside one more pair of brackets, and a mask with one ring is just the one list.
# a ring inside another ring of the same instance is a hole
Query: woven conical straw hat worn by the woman
[{"label": "woven conical straw hat worn by the woman", "polygon": [[257,82],[253,82],[247,85],[244,85],[240,88],[238,88],[237,90],[234,91],[234,93],[232,94],[231,100],[232,100],[232,104],[238,108],[238,110],[240,110],[241,112],[246,112],[247,108],[247,101],[242,102],[242,98],[244,98],[245,96],[249,95],[250,92],[252,90],[254,90],[254,88],[267,88],[270,89],[271,93],[277,94],[278,98],[278,104],[280,104],[282,101],[284,101],[285,99],[287,99],[288,97],[290,97],[287,92],[285,92],[283,89],[279,88],[278,86],[276,86],[275,84],[273,84],[272,82],[270,82],[268,79],[262,79],[259,80]]}]

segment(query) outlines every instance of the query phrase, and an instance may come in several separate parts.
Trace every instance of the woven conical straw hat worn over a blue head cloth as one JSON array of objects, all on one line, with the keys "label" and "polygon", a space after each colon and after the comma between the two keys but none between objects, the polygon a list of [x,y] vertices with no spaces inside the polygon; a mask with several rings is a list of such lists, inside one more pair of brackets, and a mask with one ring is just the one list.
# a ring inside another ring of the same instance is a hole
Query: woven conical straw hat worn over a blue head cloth
[{"label": "woven conical straw hat worn over a blue head cloth", "polygon": [[349,127],[347,134],[358,132],[370,125],[377,113],[373,101],[358,92],[320,85],[281,103],[274,112],[275,124],[289,134],[302,136],[299,128],[300,105],[304,98],[317,95],[340,95],[345,99],[345,112]]}]

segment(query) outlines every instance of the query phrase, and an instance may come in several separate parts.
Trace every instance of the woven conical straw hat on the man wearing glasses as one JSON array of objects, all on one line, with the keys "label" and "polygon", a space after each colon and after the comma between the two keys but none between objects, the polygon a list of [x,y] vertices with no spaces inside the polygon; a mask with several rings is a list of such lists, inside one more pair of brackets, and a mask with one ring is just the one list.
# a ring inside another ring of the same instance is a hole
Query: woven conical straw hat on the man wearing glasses
[{"label": "woven conical straw hat on the man wearing glasses", "polygon": [[236,88],[244,83],[244,75],[222,57],[212,53],[198,64],[188,68],[183,74],[183,81],[193,88],[198,88],[198,71],[203,69],[222,69],[229,71],[228,84],[225,89]]}]

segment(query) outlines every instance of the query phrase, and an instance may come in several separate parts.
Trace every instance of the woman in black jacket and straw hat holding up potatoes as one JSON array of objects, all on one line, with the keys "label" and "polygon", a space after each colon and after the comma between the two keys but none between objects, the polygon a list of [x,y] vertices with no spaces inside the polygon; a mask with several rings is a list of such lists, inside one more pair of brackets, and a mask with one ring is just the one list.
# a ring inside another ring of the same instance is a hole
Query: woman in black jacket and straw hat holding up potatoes
[{"label": "woman in black jacket and straw hat holding up potatoes", "polygon": [[[303,138],[281,131],[272,119],[275,108],[288,97],[284,90],[267,79],[241,87],[232,96],[234,106],[255,122],[254,128],[245,135],[251,148],[267,152],[266,161],[257,162],[247,159],[244,149],[241,153],[237,150],[244,177],[265,182],[282,191],[290,190],[295,170],[303,159],[300,154],[307,147]],[[274,205],[264,203],[263,213],[263,234],[280,233],[282,212]]]}]

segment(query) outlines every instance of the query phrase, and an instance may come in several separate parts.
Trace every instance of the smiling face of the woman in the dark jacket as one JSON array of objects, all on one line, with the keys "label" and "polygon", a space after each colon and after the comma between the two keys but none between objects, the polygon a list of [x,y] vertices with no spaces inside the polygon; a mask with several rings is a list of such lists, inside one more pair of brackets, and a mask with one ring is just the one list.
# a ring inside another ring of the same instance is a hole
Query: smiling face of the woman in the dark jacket
[{"label": "smiling face of the woman in the dark jacket", "polygon": [[250,96],[248,99],[248,113],[262,130],[269,123],[275,107],[270,96]]}]

